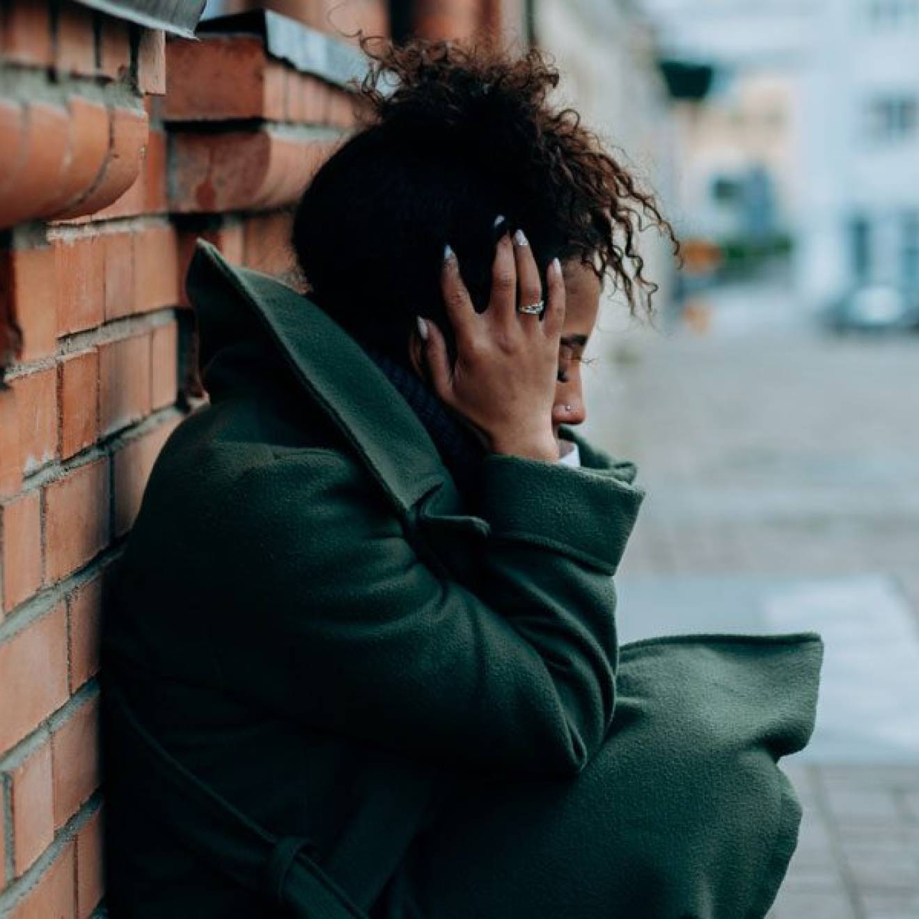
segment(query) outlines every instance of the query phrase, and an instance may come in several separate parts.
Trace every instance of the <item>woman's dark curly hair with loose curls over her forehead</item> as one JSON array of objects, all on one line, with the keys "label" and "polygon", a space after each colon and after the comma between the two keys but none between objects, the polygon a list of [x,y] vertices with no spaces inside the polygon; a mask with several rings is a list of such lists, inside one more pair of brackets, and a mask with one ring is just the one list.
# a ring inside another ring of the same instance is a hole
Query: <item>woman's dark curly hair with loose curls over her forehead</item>
[{"label": "woman's dark curly hair with loose curls over her forehead", "polygon": [[414,315],[454,345],[439,289],[449,243],[479,310],[488,301],[494,218],[527,233],[544,272],[578,257],[611,275],[630,311],[651,312],[638,233],[678,245],[652,195],[572,108],[547,96],[559,73],[537,50],[494,43],[360,38],[369,72],[360,130],[313,177],[293,244],[312,299],[358,338],[404,354]]}]

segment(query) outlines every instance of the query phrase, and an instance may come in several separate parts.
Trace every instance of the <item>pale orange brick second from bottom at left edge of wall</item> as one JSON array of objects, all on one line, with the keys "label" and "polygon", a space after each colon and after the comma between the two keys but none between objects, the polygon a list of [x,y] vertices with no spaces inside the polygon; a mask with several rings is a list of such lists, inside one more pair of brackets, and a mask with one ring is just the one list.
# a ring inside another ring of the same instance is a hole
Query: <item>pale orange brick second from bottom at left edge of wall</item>
[{"label": "pale orange brick second from bottom at left edge of wall", "polygon": [[54,838],[51,808],[51,745],[41,746],[10,770],[13,803],[13,861],[17,877]]}]

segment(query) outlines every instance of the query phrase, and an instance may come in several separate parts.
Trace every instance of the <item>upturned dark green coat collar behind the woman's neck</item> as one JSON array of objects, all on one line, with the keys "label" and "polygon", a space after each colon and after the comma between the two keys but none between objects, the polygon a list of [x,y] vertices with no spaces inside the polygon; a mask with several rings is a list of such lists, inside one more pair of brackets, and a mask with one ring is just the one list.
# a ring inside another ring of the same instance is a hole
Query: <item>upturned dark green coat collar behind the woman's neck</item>
[{"label": "upturned dark green coat collar behind the woman's neck", "polygon": [[[188,267],[187,286],[242,299],[286,358],[304,390],[357,451],[394,505],[414,505],[450,482],[437,447],[402,394],[346,331],[302,294],[276,278],[235,267],[203,239]],[[227,304],[192,296],[202,322]]]}]

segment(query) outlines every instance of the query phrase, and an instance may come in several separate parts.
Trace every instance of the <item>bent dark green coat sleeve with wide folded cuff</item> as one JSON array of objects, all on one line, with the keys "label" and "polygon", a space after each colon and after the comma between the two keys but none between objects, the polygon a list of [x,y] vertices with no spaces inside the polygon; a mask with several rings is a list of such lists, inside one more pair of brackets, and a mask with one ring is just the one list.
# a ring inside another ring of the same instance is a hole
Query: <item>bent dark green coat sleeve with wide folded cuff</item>
[{"label": "bent dark green coat sleeve with wide folded cuff", "polygon": [[233,689],[442,766],[579,772],[613,715],[612,574],[643,493],[612,469],[497,455],[483,481],[473,594],[420,560],[356,460],[308,449],[246,471],[219,553],[258,576],[228,576],[233,622],[214,630]]}]

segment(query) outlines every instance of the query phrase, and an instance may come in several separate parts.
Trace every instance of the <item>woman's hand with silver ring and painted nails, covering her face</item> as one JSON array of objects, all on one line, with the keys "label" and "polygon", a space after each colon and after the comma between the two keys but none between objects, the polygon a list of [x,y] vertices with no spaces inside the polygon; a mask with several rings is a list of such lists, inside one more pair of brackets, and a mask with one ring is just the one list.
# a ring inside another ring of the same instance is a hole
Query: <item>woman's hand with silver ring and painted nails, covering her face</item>
[{"label": "woman's hand with silver ring and painted nails, covering her face", "polygon": [[541,322],[539,315],[517,312],[517,298],[521,304],[538,302],[542,285],[526,237],[517,231],[512,241],[504,233],[494,255],[488,307],[477,313],[448,247],[441,288],[456,335],[454,367],[437,324],[421,317],[418,324],[437,395],[482,433],[492,451],[555,462],[559,447],[551,410],[565,312],[558,259],[546,280]]}]

